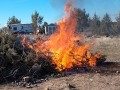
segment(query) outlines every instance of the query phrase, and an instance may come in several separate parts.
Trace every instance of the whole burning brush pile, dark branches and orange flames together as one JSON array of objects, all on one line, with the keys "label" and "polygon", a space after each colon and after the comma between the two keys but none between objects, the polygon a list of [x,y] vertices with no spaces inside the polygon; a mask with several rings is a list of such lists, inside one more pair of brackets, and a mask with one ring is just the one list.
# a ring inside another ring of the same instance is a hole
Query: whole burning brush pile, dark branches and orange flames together
[{"label": "whole burning brush pile, dark branches and orange flames together", "polygon": [[76,66],[96,66],[102,56],[90,53],[89,43],[83,43],[82,36],[75,33],[76,22],[76,12],[69,3],[65,16],[57,23],[58,28],[50,38],[33,41],[1,31],[0,83],[19,82],[26,76],[33,82],[36,78],[55,76]]}]

